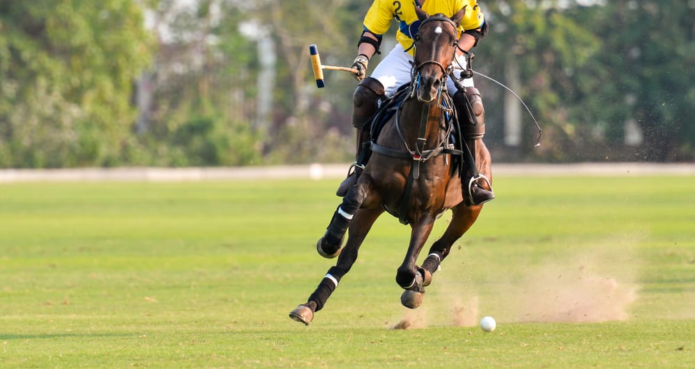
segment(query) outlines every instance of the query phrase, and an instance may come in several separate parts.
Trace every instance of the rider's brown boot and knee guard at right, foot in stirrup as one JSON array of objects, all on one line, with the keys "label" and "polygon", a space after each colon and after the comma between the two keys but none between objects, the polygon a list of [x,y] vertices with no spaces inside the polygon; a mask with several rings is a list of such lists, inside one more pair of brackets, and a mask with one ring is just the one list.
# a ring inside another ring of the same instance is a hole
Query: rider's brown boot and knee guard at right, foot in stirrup
[{"label": "rider's brown boot and knee guard at right, foot in stirrup", "polygon": [[[485,109],[482,105],[480,92],[477,88],[468,87],[464,91],[457,91],[453,97],[456,106],[461,136],[464,138],[461,149],[464,151],[466,162],[467,182],[461,177],[461,188],[467,189],[468,196],[464,195],[468,206],[480,205],[495,198],[492,184],[483,174],[477,170],[475,163],[475,142],[482,140],[485,135]],[[470,142],[470,144],[469,144]],[[464,186],[465,185],[465,186]]]}]

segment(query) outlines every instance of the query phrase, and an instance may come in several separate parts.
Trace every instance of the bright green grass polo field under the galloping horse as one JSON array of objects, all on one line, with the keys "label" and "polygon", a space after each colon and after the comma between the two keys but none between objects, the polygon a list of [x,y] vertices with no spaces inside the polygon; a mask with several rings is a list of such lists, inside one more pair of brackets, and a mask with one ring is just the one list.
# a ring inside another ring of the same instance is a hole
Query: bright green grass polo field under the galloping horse
[{"label": "bright green grass polo field under the galloping horse", "polygon": [[4,184],[0,366],[692,368],[694,180],[496,177],[416,311],[384,215],[309,327],[338,180]]}]

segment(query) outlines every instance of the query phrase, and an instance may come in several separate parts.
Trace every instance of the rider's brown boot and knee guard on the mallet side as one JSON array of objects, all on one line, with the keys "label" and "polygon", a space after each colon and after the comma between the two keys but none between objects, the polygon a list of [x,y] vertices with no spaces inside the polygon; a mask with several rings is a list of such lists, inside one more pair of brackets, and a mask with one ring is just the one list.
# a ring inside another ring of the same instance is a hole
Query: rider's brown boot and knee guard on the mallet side
[{"label": "rider's brown boot and knee guard on the mallet side", "polygon": [[347,170],[347,178],[338,186],[336,195],[344,197],[347,191],[357,184],[359,175],[362,174],[364,166],[369,160],[371,149],[370,143],[370,122],[377,110],[379,103],[384,99],[384,86],[377,79],[367,77],[357,86],[352,96],[352,126],[357,129],[357,150],[355,162]]}]

